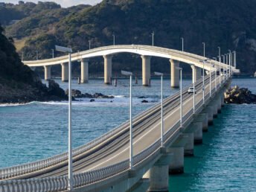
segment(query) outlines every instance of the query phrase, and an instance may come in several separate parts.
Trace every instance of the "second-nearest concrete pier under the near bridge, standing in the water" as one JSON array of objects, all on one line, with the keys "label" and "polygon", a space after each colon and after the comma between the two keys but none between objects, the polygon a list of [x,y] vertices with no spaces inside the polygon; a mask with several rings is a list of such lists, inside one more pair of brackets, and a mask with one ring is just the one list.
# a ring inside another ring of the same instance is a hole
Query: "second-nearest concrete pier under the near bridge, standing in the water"
[{"label": "second-nearest concrete pier under the near bridge, standing in the water", "polygon": [[167,149],[167,153],[173,153],[173,159],[169,164],[170,174],[179,174],[184,172],[184,146],[188,137],[184,134]]}]

